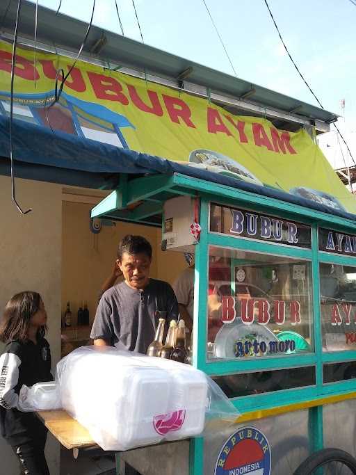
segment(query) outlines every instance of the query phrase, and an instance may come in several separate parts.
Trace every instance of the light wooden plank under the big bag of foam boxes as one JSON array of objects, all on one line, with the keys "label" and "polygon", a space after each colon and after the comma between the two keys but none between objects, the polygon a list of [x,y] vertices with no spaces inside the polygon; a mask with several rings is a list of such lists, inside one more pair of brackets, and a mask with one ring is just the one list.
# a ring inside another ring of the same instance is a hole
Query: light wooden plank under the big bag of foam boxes
[{"label": "light wooden plank under the big bag of foam boxes", "polygon": [[89,431],[73,419],[65,410],[40,411],[38,417],[49,432],[65,446],[66,449],[97,447]]}]

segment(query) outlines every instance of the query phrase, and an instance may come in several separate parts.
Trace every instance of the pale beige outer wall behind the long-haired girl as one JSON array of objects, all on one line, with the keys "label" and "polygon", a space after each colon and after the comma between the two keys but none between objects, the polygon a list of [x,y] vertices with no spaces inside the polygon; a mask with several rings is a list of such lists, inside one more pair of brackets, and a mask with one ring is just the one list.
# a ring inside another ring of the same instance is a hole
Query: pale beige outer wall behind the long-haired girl
[{"label": "pale beige outer wall behind the long-haired girl", "polygon": [[[22,216],[11,202],[9,177],[0,176],[1,312],[17,292],[40,292],[48,313],[48,335],[53,368],[60,357],[61,187],[17,179],[16,197],[33,211]],[[0,345],[0,353],[3,345]],[[59,444],[47,438],[51,475],[59,473]],[[1,473],[17,475],[18,465],[10,447],[0,438]]]}]

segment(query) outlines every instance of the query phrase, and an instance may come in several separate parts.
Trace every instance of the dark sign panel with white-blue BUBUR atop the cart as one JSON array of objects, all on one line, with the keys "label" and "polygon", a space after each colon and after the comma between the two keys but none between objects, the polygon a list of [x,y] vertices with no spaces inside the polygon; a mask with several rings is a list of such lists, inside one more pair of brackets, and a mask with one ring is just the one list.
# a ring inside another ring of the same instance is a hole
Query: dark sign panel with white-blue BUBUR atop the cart
[{"label": "dark sign panel with white-blue BUBUR atop the cart", "polygon": [[310,226],[218,204],[211,204],[210,230],[257,241],[312,247]]}]

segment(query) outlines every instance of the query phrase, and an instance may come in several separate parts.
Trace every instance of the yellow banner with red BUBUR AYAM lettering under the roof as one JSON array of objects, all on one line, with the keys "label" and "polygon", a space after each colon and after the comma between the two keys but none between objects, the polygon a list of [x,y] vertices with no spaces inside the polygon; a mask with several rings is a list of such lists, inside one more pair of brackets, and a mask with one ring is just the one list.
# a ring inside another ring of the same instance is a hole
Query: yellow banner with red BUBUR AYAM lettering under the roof
[{"label": "yellow banner with red BUBUR AYAM lettering under the roof", "polygon": [[[12,46],[0,42],[0,113],[9,111]],[[304,129],[228,113],[207,99],[78,61],[17,48],[14,114],[70,134],[264,184],[356,214],[356,201]],[[60,78],[59,74],[59,78]],[[60,81],[58,81],[60,84]]]}]

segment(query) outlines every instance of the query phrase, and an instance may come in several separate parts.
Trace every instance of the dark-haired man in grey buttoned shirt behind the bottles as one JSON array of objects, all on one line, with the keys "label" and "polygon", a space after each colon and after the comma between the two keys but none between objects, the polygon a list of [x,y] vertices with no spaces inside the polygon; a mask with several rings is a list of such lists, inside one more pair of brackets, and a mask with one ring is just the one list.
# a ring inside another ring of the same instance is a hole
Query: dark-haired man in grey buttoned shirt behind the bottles
[{"label": "dark-haired man in grey buttoned shirt behind the bottles", "polygon": [[124,281],[103,293],[90,338],[96,346],[146,353],[160,318],[178,317],[170,284],[149,278],[152,247],[142,236],[128,234],[118,247],[118,266]]}]

